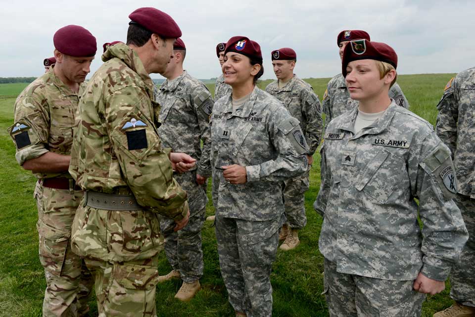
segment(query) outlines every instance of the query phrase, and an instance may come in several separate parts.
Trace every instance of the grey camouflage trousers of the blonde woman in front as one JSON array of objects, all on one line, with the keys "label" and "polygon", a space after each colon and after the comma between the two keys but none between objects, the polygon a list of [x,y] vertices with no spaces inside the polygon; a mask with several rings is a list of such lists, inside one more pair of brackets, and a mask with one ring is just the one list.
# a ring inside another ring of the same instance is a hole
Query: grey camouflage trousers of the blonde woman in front
[{"label": "grey camouflage trousers of the blonde woman in front", "polygon": [[414,280],[392,281],[338,273],[325,259],[324,294],[331,317],[420,317],[426,298]]}]

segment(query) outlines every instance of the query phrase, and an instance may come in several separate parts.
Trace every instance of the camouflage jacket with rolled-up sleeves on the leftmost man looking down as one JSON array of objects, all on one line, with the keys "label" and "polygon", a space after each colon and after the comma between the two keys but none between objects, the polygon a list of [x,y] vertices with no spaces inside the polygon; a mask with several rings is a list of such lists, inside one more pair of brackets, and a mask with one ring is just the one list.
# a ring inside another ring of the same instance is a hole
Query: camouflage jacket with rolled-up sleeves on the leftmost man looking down
[{"label": "camouflage jacket with rolled-up sleeves on the leftmost man looking down", "polygon": [[[47,152],[71,154],[76,110],[86,84],[81,83],[79,94],[74,93],[54,75],[53,68],[54,65],[16,99],[15,122],[8,130],[20,165]],[[35,175],[38,178],[71,178],[67,171]]]}]

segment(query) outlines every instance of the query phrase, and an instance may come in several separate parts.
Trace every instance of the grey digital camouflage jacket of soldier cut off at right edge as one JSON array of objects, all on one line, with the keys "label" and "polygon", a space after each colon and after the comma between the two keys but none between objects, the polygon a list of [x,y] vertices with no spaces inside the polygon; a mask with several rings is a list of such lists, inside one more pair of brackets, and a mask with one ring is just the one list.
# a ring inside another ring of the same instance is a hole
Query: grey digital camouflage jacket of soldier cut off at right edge
[{"label": "grey digital camouflage jacket of soldier cut off at right edge", "polygon": [[475,68],[448,82],[437,110],[435,131],[452,151],[458,192],[475,199]]}]

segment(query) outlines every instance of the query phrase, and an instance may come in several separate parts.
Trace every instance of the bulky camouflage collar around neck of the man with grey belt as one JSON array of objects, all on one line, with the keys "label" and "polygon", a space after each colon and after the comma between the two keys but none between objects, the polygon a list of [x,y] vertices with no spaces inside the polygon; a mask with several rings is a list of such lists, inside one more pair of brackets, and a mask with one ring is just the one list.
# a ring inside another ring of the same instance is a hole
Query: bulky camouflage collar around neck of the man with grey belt
[{"label": "bulky camouflage collar around neck of the man with grey belt", "polygon": [[112,58],[119,58],[122,60],[129,68],[135,71],[142,81],[145,84],[147,94],[150,97],[150,100],[153,100],[153,81],[148,75],[143,66],[142,60],[139,58],[139,55],[123,43],[117,43],[105,51],[102,54],[102,61],[107,61]]}]

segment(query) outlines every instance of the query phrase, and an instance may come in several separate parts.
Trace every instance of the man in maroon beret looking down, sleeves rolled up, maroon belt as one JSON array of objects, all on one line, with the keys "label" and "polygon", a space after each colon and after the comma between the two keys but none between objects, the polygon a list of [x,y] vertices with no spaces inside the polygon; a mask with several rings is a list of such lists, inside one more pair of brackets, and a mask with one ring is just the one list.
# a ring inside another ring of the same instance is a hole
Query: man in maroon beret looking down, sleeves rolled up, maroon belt
[{"label": "man in maroon beret looking down, sleeves rolled up, maroon belt", "polygon": [[40,261],[45,269],[43,316],[84,316],[93,287],[84,260],[71,249],[71,225],[83,191],[68,172],[75,115],[96,52],[95,37],[68,25],[53,37],[54,57],[47,73],[23,90],[15,102],[10,130],[16,159],[38,177]]}]

